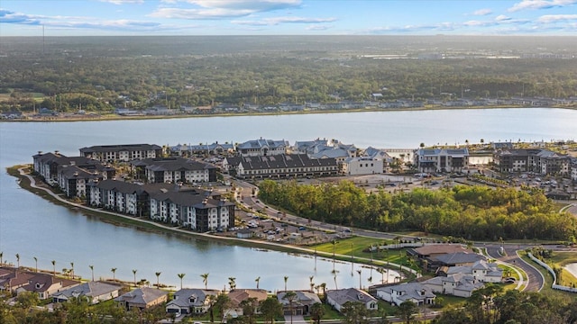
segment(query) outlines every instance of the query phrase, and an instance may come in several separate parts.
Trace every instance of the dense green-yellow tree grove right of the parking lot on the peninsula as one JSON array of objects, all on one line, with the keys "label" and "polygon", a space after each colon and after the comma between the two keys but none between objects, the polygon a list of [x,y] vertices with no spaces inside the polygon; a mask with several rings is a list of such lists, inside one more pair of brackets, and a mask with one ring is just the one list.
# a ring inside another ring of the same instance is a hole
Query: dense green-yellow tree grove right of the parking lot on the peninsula
[{"label": "dense green-yellow tree grove right of the parking lot on the peninsula", "polygon": [[364,229],[417,230],[474,240],[566,240],[577,230],[574,218],[554,211],[539,190],[478,185],[367,194],[350,181],[314,185],[271,180],[259,188],[262,201],[298,216]]}]

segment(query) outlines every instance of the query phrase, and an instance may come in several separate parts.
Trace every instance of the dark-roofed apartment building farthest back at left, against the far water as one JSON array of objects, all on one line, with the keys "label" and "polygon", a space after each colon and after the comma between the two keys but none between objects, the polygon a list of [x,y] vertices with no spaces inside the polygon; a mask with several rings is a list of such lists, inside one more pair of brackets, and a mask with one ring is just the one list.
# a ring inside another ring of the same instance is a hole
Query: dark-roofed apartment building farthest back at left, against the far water
[{"label": "dark-roofed apartment building farthest back at left, against the far water", "polygon": [[129,162],[135,159],[162,157],[162,148],[154,144],[101,145],[80,148],[80,155],[100,162]]}]

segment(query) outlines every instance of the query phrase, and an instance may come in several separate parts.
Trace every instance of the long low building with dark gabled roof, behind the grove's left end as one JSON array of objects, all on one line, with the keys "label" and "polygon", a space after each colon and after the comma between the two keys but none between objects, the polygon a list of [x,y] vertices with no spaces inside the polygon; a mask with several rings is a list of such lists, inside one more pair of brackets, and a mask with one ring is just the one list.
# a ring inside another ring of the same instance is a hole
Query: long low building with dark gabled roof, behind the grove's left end
[{"label": "long low building with dark gabled roof, behind the grove's left end", "polygon": [[240,178],[287,178],[337,175],[334,158],[309,158],[306,154],[269,157],[226,157],[223,168]]}]

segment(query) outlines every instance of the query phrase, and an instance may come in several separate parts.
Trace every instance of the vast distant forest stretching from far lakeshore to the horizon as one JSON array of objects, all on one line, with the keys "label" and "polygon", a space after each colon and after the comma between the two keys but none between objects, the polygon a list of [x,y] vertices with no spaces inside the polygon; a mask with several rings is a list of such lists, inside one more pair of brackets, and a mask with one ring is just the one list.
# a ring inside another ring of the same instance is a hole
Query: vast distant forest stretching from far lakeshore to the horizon
[{"label": "vast distant forest stretching from far lakeshore to the horizon", "polygon": [[[382,94],[380,101],[568,98],[577,92],[577,49],[567,48],[566,41],[7,38],[0,47],[0,109],[110,112],[157,104],[176,109],[216,103],[332,103],[370,100],[375,93]],[[541,43],[548,47],[536,50]],[[533,56],[544,50],[554,55]],[[445,59],[423,58],[431,53]],[[397,59],[376,59],[380,56]],[[495,56],[501,58],[491,59]]]}]

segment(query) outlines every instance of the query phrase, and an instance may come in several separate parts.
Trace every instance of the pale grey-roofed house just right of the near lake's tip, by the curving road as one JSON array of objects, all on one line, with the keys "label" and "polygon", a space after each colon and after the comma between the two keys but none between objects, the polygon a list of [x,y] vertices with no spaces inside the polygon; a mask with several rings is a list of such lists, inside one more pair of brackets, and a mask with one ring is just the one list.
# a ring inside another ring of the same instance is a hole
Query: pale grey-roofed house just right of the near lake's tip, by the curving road
[{"label": "pale grey-roofed house just right of the near lake's tip, by the curving road", "polygon": [[484,284],[472,275],[452,274],[436,276],[421,283],[434,293],[450,294],[458,297],[471,297],[472,292],[481,289]]}]

